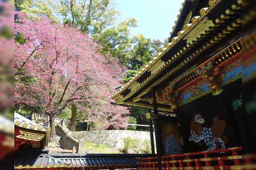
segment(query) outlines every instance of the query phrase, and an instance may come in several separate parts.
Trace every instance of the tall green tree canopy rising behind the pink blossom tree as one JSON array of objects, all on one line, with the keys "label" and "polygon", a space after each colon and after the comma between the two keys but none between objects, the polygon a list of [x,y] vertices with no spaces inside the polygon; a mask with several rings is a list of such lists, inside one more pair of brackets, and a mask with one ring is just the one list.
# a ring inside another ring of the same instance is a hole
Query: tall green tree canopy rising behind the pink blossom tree
[{"label": "tall green tree canopy rising behind the pink blossom tree", "polygon": [[[131,80],[141,67],[146,65],[160,51],[163,45],[160,40],[151,40],[142,34],[132,36],[130,28],[137,27],[137,20],[135,18],[118,20],[120,13],[116,10],[113,0],[17,0],[17,2],[15,1],[15,10],[36,18],[43,17],[57,25],[63,23],[64,27],[73,27],[82,33],[87,33],[89,37],[93,37],[91,40],[94,41],[94,44],[102,47],[97,47],[98,52],[104,55],[105,60],[108,61],[107,64],[112,63],[113,58],[110,56],[113,56],[115,58],[114,63],[118,61],[124,66],[123,72],[126,74],[119,75],[119,77],[125,77],[122,83]],[[20,44],[26,42],[26,38],[23,38],[20,33],[16,33],[15,40]],[[117,72],[115,71],[115,73]],[[32,78],[18,79],[27,84],[36,81]],[[76,103],[76,107],[82,109],[77,105],[81,102],[72,103]],[[88,111],[88,113],[91,112]],[[72,120],[75,120],[75,114],[76,112],[73,110]]]}]

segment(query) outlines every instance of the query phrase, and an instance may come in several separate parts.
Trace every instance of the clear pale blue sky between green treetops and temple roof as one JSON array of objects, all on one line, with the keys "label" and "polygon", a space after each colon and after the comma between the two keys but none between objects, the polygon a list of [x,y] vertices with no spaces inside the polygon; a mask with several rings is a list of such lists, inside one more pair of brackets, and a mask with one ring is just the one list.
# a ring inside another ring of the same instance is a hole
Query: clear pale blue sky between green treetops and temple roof
[{"label": "clear pale blue sky between green treetops and temple roof", "polygon": [[[175,25],[184,0],[114,0],[122,20],[136,18],[138,27],[131,34],[144,34],[146,38],[164,42]],[[164,42],[165,43],[165,42]]]}]

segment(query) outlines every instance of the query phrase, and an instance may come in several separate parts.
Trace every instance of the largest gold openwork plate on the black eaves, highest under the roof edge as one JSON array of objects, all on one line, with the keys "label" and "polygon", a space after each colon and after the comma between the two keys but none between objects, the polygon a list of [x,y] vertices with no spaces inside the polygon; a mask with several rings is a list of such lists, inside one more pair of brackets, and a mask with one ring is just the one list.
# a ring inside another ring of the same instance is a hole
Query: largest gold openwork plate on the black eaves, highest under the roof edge
[{"label": "largest gold openwork plate on the black eaves, highest under the roof edge", "polygon": [[205,34],[205,31],[209,31],[210,26],[212,26],[212,20],[208,20],[207,17],[205,17],[183,39],[187,39],[187,43],[193,44],[193,40],[196,41],[197,38],[200,38],[201,34]]}]

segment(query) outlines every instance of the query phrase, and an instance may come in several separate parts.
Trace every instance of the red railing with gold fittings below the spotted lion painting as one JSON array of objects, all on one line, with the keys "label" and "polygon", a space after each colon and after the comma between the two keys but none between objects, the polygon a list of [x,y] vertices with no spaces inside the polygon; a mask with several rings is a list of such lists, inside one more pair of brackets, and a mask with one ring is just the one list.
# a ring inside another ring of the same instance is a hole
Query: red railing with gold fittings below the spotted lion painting
[{"label": "red railing with gold fittings below the spotted lion painting", "polygon": [[[141,158],[139,170],[157,170],[157,157]],[[242,169],[242,147],[161,157],[162,170]]]}]

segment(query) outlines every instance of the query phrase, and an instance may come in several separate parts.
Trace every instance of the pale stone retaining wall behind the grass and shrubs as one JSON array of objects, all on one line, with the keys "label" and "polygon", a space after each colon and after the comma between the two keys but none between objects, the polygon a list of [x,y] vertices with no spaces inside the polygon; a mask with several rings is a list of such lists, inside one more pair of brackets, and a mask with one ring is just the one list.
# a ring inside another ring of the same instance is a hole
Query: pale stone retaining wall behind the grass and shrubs
[{"label": "pale stone retaining wall behind the grass and shrubs", "polygon": [[[69,133],[70,134],[70,133]],[[121,148],[123,146],[123,138],[131,137],[132,139],[150,139],[150,132],[143,131],[127,131],[127,130],[103,130],[103,131],[80,131],[71,132],[71,136],[79,139],[85,139],[98,144],[105,144],[110,147]],[[154,134],[155,141],[155,134]]]}]

